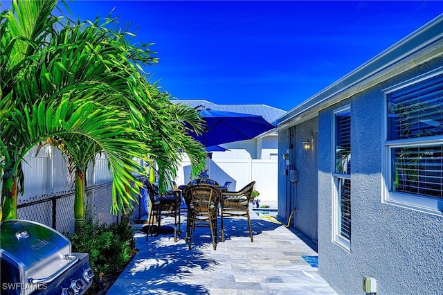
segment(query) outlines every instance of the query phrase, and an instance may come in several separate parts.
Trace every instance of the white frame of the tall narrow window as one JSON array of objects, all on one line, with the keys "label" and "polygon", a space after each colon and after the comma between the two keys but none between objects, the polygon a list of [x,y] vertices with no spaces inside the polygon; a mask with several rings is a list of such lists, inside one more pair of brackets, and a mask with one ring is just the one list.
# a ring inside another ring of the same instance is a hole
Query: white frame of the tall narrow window
[{"label": "white frame of the tall narrow window", "polygon": [[[338,181],[341,181],[341,179],[349,179],[350,180],[350,186],[351,186],[351,195],[352,195],[352,169],[350,173],[340,173],[336,171],[336,118],[337,114],[344,113],[344,112],[351,112],[351,105],[345,105],[343,107],[339,107],[338,109],[335,109],[332,112],[332,242],[334,244],[337,244],[339,247],[343,248],[345,251],[349,252],[351,251],[351,241],[352,241],[352,235],[351,238],[347,238],[344,235],[341,235],[341,192],[339,191]],[[351,133],[351,139],[352,139],[352,116],[351,116],[351,123],[350,123],[350,133]],[[352,149],[352,145],[351,145]],[[352,153],[352,150],[351,150]],[[352,166],[352,161],[351,161]],[[352,197],[351,197],[351,208],[352,208]],[[351,211],[352,212],[352,211]],[[352,214],[352,213],[351,213]],[[352,220],[352,215],[351,215]],[[352,232],[352,228],[351,228]]]}]

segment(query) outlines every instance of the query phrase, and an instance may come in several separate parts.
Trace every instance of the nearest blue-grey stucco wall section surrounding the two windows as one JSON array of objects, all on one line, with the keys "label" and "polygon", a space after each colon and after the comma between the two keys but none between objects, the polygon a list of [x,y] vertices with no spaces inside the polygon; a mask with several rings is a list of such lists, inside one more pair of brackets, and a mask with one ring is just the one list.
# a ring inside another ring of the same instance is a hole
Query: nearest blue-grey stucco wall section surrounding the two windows
[{"label": "nearest blue-grey stucco wall section surrounding the two windows", "polygon": [[339,294],[365,294],[363,276],[377,294],[443,294],[443,217],[382,204],[382,89],[443,66],[443,59],[377,84],[340,105],[351,105],[352,244],[332,242],[332,111],[318,116],[319,273]]}]

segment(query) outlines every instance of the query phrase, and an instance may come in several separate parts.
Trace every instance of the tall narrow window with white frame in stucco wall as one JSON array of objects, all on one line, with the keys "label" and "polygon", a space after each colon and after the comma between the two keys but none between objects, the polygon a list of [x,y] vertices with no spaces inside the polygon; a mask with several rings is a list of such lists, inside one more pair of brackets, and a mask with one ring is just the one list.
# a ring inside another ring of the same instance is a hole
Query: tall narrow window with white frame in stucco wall
[{"label": "tall narrow window with white frame in stucco wall", "polygon": [[334,113],[334,242],[351,246],[351,112]]}]

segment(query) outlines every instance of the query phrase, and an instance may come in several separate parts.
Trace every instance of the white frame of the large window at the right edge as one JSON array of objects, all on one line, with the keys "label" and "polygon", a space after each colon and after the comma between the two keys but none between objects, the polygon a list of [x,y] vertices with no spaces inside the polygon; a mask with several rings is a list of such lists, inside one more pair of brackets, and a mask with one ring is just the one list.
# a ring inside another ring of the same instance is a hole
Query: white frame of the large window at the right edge
[{"label": "white frame of the large window at the right edge", "polygon": [[442,146],[443,136],[428,136],[405,139],[388,139],[388,96],[390,93],[405,89],[420,82],[434,78],[437,75],[443,75],[443,67],[419,75],[413,79],[395,84],[392,87],[383,89],[383,186],[381,192],[381,202],[420,211],[432,215],[443,216],[443,199],[436,197],[427,197],[424,195],[415,195],[413,193],[396,192],[392,190],[392,149],[398,147],[427,147],[431,145]]}]

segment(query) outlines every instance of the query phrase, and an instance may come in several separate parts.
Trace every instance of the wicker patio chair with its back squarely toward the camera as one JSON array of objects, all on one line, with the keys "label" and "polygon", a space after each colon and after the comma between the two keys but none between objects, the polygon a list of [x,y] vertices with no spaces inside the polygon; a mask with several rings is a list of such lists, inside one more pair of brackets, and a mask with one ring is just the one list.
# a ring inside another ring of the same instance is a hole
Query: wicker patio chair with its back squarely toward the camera
[{"label": "wicker patio chair with its back squarely toward the camera", "polygon": [[217,212],[221,199],[221,190],[210,184],[197,184],[183,190],[188,205],[186,240],[189,249],[192,247],[192,236],[197,226],[208,226],[213,240],[213,248],[217,249],[218,226]]}]

